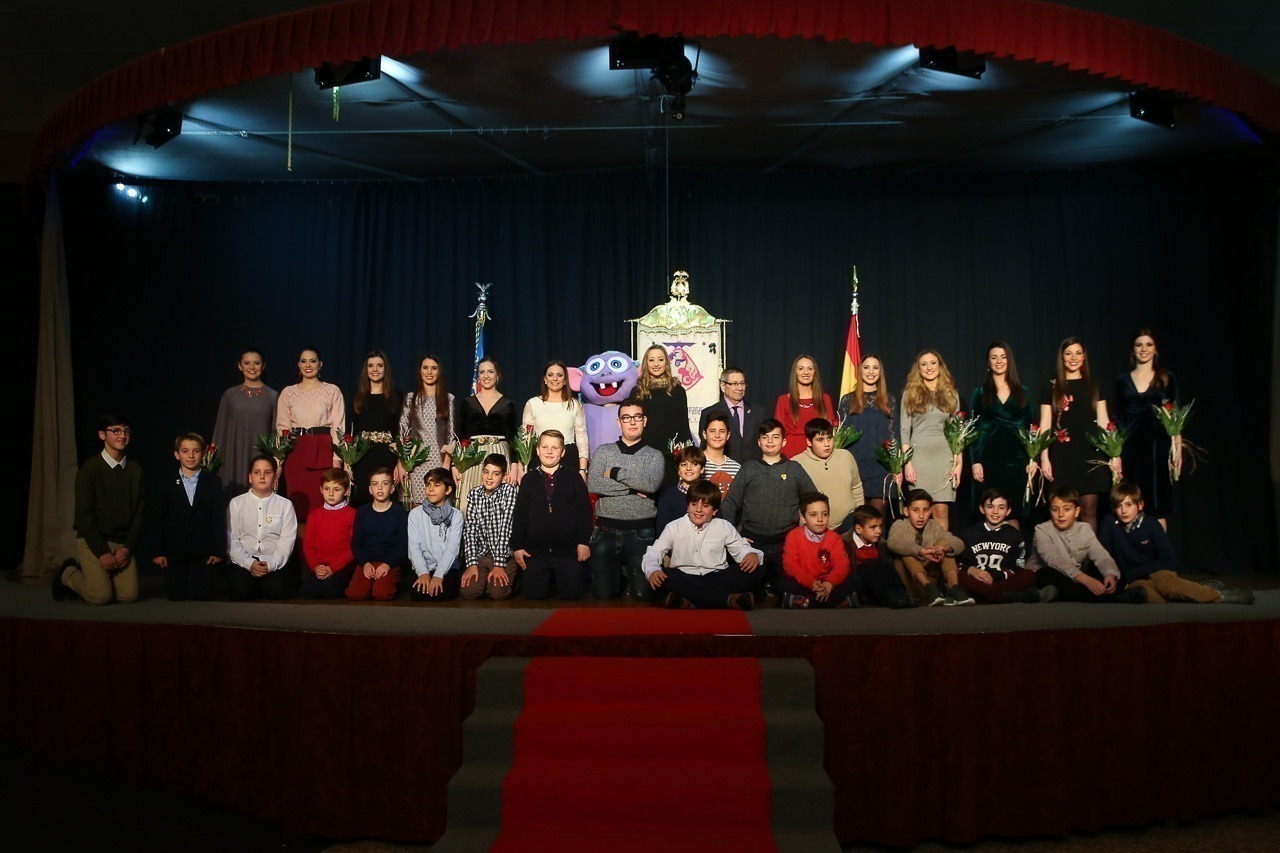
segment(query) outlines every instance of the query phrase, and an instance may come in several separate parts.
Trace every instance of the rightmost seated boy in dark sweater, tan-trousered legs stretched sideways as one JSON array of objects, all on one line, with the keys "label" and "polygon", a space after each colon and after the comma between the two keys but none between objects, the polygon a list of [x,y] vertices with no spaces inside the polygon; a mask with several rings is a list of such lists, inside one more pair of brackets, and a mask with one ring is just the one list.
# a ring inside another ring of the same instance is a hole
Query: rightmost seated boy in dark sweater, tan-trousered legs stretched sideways
[{"label": "rightmost seated boy in dark sweater, tan-trousered legs stretched sideways", "polygon": [[1253,590],[1224,589],[1220,581],[1198,584],[1178,576],[1178,552],[1169,534],[1155,519],[1143,514],[1142,489],[1123,482],[1111,489],[1111,511],[1098,525],[1098,538],[1120,569],[1124,587],[1140,587],[1147,601],[1190,601],[1201,605],[1252,605]]}]

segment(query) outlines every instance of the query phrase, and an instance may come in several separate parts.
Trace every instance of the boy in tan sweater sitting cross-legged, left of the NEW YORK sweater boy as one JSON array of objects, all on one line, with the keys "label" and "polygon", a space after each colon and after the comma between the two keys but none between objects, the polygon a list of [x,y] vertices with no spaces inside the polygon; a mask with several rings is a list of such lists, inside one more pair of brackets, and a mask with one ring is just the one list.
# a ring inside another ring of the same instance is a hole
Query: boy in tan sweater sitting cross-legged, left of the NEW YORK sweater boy
[{"label": "boy in tan sweater sitting cross-legged, left of the NEW YORK sweater boy", "polygon": [[[933,517],[933,496],[924,489],[911,489],[905,496],[906,517],[888,529],[888,549],[897,557],[902,585],[925,607],[936,605],[972,605],[973,596],[961,587],[955,556],[964,551],[964,542],[947,533]],[[946,585],[942,594],[938,581]]]}]

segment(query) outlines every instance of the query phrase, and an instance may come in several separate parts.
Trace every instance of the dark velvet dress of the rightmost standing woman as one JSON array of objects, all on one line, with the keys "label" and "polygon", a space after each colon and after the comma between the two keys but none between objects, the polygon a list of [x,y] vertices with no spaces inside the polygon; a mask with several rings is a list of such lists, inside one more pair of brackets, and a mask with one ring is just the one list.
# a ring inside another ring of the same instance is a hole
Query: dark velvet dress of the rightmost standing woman
[{"label": "dark velvet dress of the rightmost standing woman", "polygon": [[1149,386],[1138,392],[1128,373],[1116,377],[1111,392],[1112,418],[1129,430],[1120,460],[1124,478],[1142,489],[1144,510],[1155,516],[1167,516],[1172,511],[1172,483],[1169,482],[1169,447],[1171,439],[1160,425],[1152,406],[1166,401],[1181,405],[1178,380],[1166,374],[1165,386]]}]

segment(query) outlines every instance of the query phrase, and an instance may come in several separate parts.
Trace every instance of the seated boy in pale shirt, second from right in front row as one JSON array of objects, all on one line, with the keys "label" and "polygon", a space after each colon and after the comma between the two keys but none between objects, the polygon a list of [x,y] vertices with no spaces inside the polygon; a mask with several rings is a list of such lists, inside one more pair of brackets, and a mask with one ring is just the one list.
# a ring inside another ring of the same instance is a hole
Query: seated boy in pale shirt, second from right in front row
[{"label": "seated boy in pale shirt, second from right in front row", "polygon": [[1147,601],[1142,587],[1117,592],[1120,569],[1115,560],[1098,542],[1093,528],[1075,523],[1080,517],[1079,492],[1069,485],[1055,485],[1048,497],[1048,521],[1036,525],[1029,565],[1037,569],[1037,584],[1056,587],[1057,598],[1062,601],[1125,605]]}]

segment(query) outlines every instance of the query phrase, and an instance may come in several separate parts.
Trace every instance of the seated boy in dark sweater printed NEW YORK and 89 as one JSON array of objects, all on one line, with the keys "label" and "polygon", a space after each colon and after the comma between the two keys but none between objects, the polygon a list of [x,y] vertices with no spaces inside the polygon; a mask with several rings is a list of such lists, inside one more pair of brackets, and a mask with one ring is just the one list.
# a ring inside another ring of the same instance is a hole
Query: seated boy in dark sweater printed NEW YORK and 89
[{"label": "seated boy in dark sweater printed NEW YORK and 89", "polygon": [[956,557],[960,585],[984,602],[1034,605],[1052,601],[1055,587],[1036,588],[1036,573],[1025,567],[1023,532],[1009,517],[1009,496],[987,489],[979,501],[983,520],[960,534],[965,548]]}]

